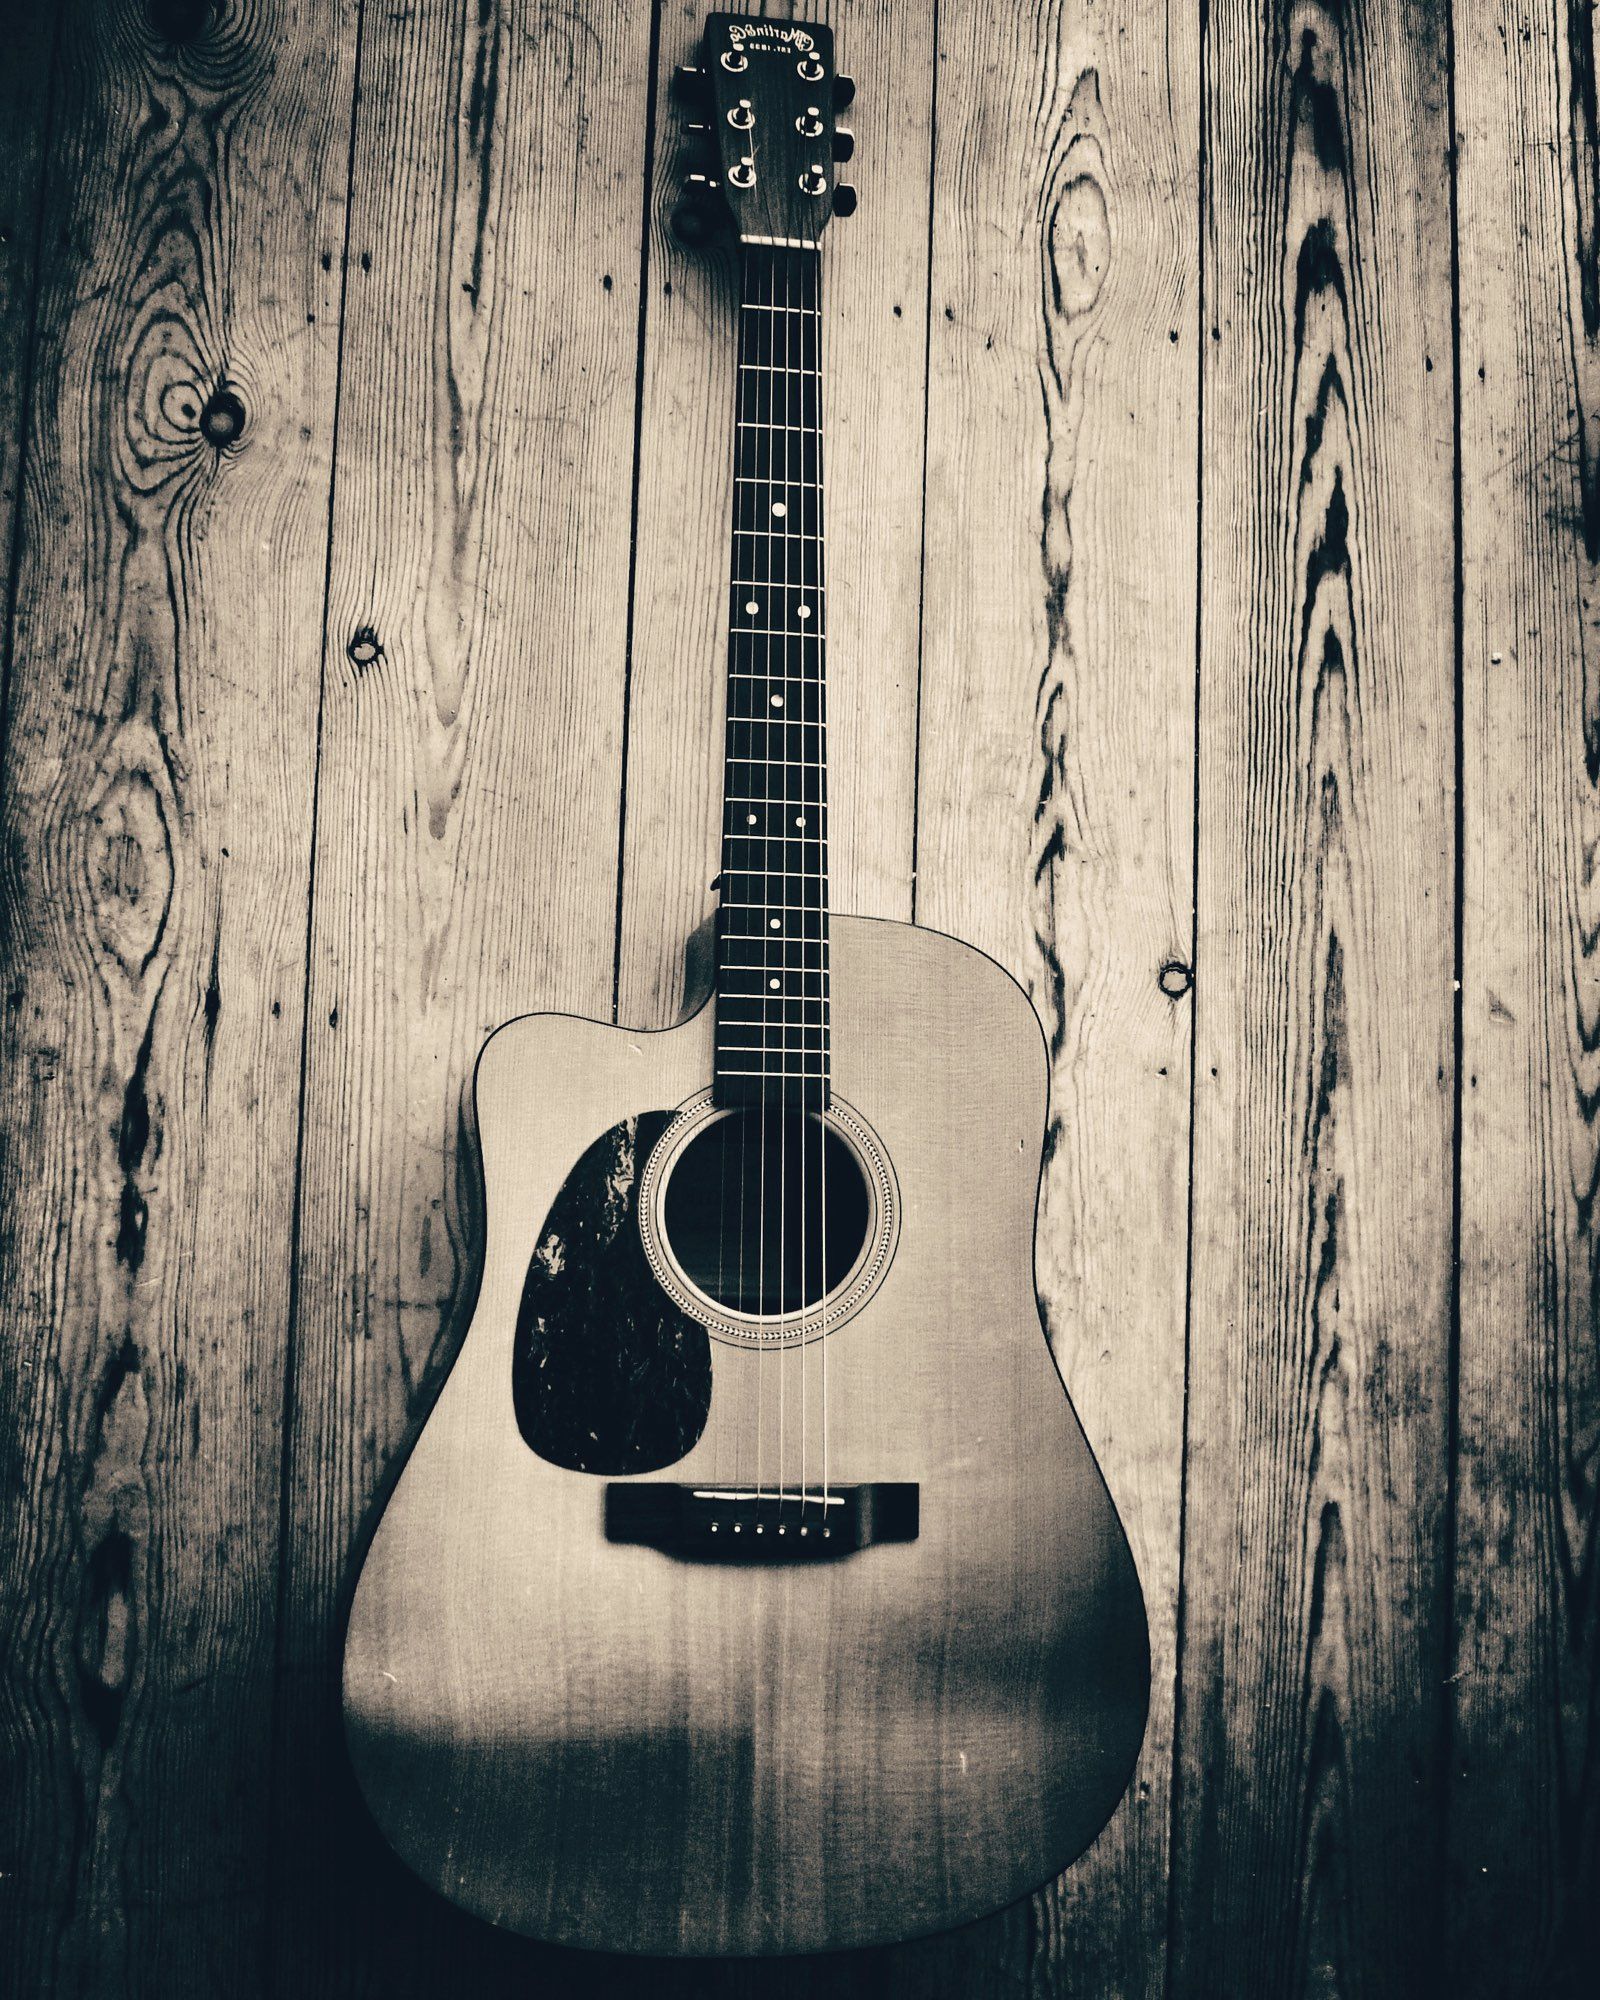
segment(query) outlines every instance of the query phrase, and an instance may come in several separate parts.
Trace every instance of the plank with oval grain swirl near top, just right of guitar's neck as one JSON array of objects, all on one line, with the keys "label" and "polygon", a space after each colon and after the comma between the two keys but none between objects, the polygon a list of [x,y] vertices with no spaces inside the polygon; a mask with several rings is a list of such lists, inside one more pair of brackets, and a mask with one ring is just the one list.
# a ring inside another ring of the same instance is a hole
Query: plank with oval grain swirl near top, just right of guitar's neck
[{"label": "plank with oval grain swirl near top, just right of guitar's neck", "polygon": [[1152,1694],[1024,1976],[1132,1996],[1164,1982],[1176,1684],[1198,26],[1008,26],[940,8],[916,916],[1008,966],[1050,1044],[1036,1278],[1134,1544]]}]

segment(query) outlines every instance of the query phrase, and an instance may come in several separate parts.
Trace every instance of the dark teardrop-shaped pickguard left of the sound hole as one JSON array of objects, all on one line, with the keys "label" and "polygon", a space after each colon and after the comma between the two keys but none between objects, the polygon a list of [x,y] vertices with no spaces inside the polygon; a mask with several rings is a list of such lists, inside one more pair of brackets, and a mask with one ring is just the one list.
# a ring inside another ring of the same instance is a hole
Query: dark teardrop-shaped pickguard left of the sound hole
[{"label": "dark teardrop-shaped pickguard left of the sound hole", "polygon": [[550,1204],[516,1314],[512,1400],[528,1446],[570,1472],[658,1472],[700,1440],[706,1328],[656,1284],[638,1180],[672,1112],[602,1132]]}]

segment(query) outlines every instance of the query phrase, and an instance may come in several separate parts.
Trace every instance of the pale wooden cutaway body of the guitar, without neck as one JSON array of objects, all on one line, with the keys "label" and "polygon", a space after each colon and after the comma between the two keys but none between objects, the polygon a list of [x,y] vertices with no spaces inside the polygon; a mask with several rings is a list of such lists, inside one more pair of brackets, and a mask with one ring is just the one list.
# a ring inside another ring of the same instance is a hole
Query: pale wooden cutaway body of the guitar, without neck
[{"label": "pale wooden cutaway body of the guitar, without neck", "polygon": [[[484,1048],[482,1290],[362,1568],[350,1756],[416,1874],[530,1936],[916,1936],[1070,1862],[1146,1714],[1140,1586],[1034,1296],[1042,1036],[970,946],[834,918],[832,1094],[882,1206],[856,1306],[768,1350],[646,1254],[646,1144],[712,1034],[528,1016]],[[914,1538],[708,1560],[608,1532],[616,1488],[746,1492],[756,1456],[818,1490],[824,1350],[826,1476],[914,1486]]]}]

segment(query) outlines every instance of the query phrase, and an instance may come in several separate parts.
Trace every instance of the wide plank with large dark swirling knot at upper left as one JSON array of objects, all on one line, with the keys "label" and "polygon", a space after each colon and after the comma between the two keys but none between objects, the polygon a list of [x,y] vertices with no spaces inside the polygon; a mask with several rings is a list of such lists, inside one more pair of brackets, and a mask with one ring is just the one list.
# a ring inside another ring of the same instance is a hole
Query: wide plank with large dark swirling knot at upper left
[{"label": "wide plank with large dark swirling knot at upper left", "polygon": [[264,1946],[350,18],[196,20],[64,8],[52,86],[4,774],[16,1994],[252,1992]]}]

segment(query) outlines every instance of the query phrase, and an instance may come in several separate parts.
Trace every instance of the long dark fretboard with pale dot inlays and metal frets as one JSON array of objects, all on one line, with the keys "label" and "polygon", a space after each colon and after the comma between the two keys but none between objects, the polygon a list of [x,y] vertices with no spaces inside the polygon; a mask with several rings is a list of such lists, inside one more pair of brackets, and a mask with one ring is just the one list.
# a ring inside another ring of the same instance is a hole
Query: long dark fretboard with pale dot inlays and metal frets
[{"label": "long dark fretboard with pale dot inlays and metal frets", "polygon": [[716,1100],[828,1102],[822,342],[814,250],[746,248]]}]

